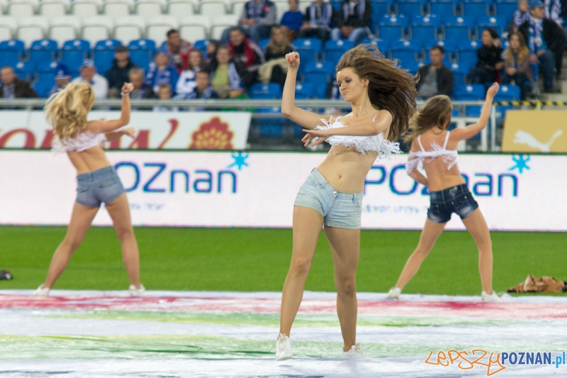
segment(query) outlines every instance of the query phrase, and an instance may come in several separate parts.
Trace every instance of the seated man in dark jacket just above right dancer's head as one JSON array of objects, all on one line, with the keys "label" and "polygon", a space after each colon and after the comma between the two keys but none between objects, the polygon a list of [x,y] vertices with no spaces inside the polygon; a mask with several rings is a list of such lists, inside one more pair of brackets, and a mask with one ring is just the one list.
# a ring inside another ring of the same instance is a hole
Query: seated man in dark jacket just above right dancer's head
[{"label": "seated man in dark jacket just above right dancer's head", "polygon": [[445,50],[442,46],[435,45],[430,48],[431,63],[420,68],[420,81],[415,86],[422,99],[429,99],[437,94],[451,96],[453,93],[453,72],[443,64],[444,58]]}]

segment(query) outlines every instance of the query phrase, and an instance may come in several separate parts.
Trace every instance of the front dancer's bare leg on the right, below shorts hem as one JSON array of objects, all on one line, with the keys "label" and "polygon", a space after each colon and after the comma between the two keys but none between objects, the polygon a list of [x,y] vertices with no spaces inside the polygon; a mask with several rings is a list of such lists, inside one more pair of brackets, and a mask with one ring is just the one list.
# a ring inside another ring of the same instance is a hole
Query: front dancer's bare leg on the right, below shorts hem
[{"label": "front dancer's bare leg on the right, below shorts hem", "polygon": [[357,343],[357,266],[360,255],[360,229],[325,226],[337,287],[337,315],[341,324],[344,352]]}]

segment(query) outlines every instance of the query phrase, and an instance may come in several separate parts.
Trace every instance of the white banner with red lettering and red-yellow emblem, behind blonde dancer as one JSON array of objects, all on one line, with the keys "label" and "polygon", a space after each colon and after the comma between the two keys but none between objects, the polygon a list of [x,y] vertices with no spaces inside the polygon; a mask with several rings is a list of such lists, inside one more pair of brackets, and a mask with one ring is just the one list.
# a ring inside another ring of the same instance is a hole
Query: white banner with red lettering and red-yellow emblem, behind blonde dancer
[{"label": "white banner with red lettering and red-yellow emblem, behind blonde dancer", "polygon": [[[243,150],[251,113],[133,111],[134,139],[107,143],[128,150]],[[91,111],[89,119],[117,119],[120,111]],[[42,111],[2,111],[0,148],[50,149],[53,133]]]}]

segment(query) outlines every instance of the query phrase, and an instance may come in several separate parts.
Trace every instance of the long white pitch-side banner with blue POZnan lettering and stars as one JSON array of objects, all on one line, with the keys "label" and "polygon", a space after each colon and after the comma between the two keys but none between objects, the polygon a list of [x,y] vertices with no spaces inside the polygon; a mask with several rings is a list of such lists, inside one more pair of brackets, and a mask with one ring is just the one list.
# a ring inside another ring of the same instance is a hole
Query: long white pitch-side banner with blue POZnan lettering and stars
[{"label": "long white pitch-side banner with blue POZnan lettering and stars", "polygon": [[[293,202],[325,158],[301,152],[128,152],[109,160],[136,226],[291,227]],[[76,196],[66,155],[0,151],[0,224],[66,225]],[[405,156],[377,160],[365,186],[362,227],[420,229],[427,188]],[[492,230],[567,230],[567,156],[461,155],[459,167]],[[95,225],[109,226],[101,209]],[[464,229],[453,214],[447,229]]]}]

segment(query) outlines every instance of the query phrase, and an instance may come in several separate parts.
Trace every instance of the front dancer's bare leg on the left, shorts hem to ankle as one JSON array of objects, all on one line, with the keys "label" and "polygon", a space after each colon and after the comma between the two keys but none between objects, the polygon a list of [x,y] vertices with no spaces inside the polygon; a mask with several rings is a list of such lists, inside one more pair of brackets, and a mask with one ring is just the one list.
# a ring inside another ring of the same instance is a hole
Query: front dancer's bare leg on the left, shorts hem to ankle
[{"label": "front dancer's bare leg on the left, shorts hem to ankle", "polygon": [[279,321],[279,332],[284,335],[289,336],[303,299],[305,279],[311,268],[322,226],[323,217],[318,211],[303,206],[293,207],[293,252],[286,282],[283,283]]}]

